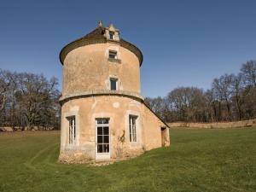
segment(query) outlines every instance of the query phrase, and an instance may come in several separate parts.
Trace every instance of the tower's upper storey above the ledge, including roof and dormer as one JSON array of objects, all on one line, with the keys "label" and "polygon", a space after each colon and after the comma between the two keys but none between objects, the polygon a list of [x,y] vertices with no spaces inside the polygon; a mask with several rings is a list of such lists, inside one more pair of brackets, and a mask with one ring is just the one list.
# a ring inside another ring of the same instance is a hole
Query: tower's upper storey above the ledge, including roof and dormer
[{"label": "tower's upper storey above the ledge, including roof and dormer", "polygon": [[115,90],[140,95],[142,52],[119,38],[113,25],[99,26],[67,44],[60,54],[63,64],[62,96]]}]

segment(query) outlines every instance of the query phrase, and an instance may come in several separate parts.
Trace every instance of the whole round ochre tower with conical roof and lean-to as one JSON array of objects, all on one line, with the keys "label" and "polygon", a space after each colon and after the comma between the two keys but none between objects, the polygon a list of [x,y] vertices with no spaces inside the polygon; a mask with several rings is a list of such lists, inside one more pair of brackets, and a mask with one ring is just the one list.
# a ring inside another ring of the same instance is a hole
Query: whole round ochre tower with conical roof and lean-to
[{"label": "whole round ochre tower with conical roof and lean-to", "polygon": [[141,96],[143,54],[119,29],[100,21],[60,60],[61,161],[123,159],[170,144],[168,125]]}]

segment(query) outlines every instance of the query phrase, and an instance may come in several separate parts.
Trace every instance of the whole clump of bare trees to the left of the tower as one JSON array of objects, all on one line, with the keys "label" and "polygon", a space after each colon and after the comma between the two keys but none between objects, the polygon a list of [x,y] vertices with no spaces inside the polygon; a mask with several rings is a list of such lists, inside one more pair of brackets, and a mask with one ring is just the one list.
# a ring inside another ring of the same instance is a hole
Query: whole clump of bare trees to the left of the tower
[{"label": "whole clump of bare trees to the left of the tower", "polygon": [[55,78],[0,69],[0,127],[59,129],[61,93],[57,86]]}]

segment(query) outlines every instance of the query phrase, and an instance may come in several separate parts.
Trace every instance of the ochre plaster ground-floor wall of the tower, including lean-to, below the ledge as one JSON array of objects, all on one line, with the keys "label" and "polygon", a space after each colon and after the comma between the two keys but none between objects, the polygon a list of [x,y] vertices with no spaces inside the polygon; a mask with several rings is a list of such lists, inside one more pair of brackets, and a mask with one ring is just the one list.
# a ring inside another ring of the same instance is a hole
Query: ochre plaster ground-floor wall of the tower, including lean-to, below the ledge
[{"label": "ochre plaster ground-floor wall of the tower, including lean-to, below the ledge", "polygon": [[[76,98],[62,106],[61,162],[79,162],[96,158],[96,119],[108,118],[110,158],[123,159],[142,154],[144,150],[160,148],[161,127],[166,125],[143,102],[126,96],[90,96]],[[137,142],[130,142],[129,115],[137,116]],[[76,143],[67,143],[68,116],[76,118]],[[166,128],[167,129],[167,128]],[[123,142],[121,142],[123,137]],[[169,130],[166,131],[166,146]]]}]

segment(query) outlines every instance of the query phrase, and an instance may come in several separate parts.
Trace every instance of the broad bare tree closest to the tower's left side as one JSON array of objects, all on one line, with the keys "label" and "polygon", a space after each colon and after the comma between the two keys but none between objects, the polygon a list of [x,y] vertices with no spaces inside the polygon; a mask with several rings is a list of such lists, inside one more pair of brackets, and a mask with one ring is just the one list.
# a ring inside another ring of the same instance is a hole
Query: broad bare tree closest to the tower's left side
[{"label": "broad bare tree closest to the tower's left side", "polygon": [[[26,116],[26,125],[32,129],[43,119],[50,119],[52,111],[52,101],[59,92],[55,89],[58,84],[57,79],[48,81],[43,75],[32,73],[20,73],[19,101],[22,103],[22,112]],[[44,125],[47,122],[44,121]]]}]

